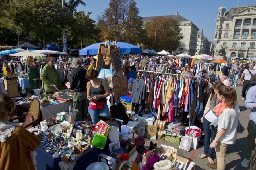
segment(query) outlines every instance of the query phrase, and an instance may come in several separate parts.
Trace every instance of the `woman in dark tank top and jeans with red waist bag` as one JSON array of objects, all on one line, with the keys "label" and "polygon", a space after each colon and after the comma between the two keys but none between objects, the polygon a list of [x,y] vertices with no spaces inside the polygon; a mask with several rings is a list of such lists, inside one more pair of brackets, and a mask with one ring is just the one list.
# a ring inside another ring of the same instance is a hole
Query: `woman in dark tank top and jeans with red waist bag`
[{"label": "woman in dark tank top and jeans with red waist bag", "polygon": [[90,109],[88,108],[89,114],[92,118],[92,122],[95,125],[99,122],[98,116],[109,116],[109,109],[106,103],[106,97],[110,95],[109,88],[106,80],[98,78],[98,71],[90,69],[86,72],[86,78],[90,80],[87,85],[87,99],[89,102],[105,102],[104,109]]}]

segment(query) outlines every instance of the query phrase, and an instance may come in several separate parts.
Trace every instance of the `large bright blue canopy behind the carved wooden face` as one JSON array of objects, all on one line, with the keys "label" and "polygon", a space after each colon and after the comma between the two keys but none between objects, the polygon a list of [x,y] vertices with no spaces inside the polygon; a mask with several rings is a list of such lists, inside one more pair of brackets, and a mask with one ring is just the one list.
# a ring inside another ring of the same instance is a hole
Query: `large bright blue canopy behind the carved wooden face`
[{"label": "large bright blue canopy behind the carved wooden face", "polygon": [[[89,45],[89,46],[83,48],[82,50],[79,50],[79,56],[97,55],[99,44],[105,44],[105,42],[92,44],[92,45]],[[110,45],[112,45],[112,42],[110,42]],[[135,45],[128,44],[125,42],[117,42],[117,47],[120,47],[121,54],[140,54],[140,53],[142,53],[142,48],[139,48]]]}]

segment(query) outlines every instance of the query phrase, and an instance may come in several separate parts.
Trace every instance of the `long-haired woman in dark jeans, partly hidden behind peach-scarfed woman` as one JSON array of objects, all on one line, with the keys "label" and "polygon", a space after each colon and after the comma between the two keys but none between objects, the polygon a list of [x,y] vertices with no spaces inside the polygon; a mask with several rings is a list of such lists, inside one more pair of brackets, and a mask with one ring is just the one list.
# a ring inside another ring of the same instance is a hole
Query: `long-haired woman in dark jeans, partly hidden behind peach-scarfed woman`
[{"label": "long-haired woman in dark jeans, partly hidden behind peach-scarfed woman", "polygon": [[214,129],[210,129],[210,124],[218,117],[214,112],[214,107],[220,103],[216,96],[217,88],[219,86],[225,86],[222,82],[216,82],[211,88],[211,94],[205,106],[204,114],[201,118],[201,122],[204,123],[204,153],[199,155],[199,159],[208,157],[209,163],[214,164],[212,156],[214,154],[214,148],[209,148],[210,143],[214,140],[216,133]]}]

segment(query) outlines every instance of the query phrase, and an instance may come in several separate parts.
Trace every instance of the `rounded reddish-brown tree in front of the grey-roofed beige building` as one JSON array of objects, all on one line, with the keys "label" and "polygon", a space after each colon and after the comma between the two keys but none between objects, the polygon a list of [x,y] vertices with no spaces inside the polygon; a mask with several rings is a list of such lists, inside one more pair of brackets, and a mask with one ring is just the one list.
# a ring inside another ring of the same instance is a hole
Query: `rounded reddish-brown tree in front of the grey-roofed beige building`
[{"label": "rounded reddish-brown tree in front of the grey-roofed beige building", "polygon": [[174,51],[179,47],[180,28],[179,23],[172,18],[155,17],[145,25],[147,40],[146,48],[154,50]]}]

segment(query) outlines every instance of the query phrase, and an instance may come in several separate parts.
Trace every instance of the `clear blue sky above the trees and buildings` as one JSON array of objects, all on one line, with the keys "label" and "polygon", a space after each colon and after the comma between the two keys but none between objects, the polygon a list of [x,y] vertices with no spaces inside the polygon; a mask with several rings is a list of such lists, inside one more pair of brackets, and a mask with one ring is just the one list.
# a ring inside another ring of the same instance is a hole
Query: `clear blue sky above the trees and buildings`
[{"label": "clear blue sky above the trees and buildings", "polygon": [[[77,11],[92,12],[90,18],[96,20],[97,15],[100,15],[108,8],[109,0],[83,0],[87,6],[80,5]],[[204,28],[205,36],[214,42],[214,30],[217,18],[218,8],[224,2],[227,11],[237,5],[238,0],[135,0],[139,8],[141,17],[174,15],[179,12],[179,15],[192,21],[201,32]],[[239,0],[239,6],[256,4],[255,0]],[[226,12],[227,12],[226,11]]]}]

